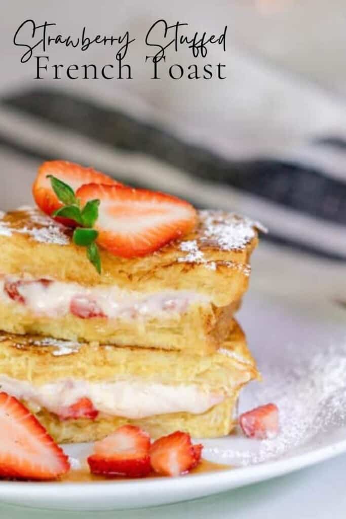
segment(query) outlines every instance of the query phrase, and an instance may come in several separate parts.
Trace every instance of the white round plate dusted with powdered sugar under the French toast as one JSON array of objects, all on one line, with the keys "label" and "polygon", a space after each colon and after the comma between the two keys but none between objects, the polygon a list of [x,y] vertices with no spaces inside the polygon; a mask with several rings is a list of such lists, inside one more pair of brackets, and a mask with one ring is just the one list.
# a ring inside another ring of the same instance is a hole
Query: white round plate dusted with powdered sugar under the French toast
[{"label": "white round plate dusted with powdered sugar under the French toast", "polygon": [[[203,441],[204,457],[229,463],[230,470],[84,484],[1,482],[0,500],[65,510],[148,507],[263,481],[345,452],[346,309],[248,294],[240,321],[265,380],[243,391],[240,410],[278,403],[277,439],[258,442],[235,434]],[[85,457],[89,449],[65,446],[74,458]]]}]

